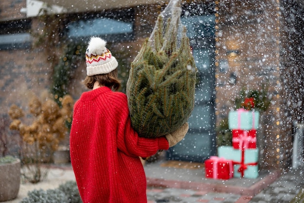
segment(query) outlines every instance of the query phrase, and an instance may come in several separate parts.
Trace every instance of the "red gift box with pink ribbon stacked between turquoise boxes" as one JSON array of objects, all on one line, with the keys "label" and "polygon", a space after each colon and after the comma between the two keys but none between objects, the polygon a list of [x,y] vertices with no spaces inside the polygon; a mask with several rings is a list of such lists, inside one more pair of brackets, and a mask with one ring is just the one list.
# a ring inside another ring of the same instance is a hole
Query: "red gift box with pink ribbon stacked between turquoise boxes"
[{"label": "red gift box with pink ribbon stacked between turquoise boxes", "polygon": [[255,149],[256,130],[232,130],[232,146],[234,149]]}]

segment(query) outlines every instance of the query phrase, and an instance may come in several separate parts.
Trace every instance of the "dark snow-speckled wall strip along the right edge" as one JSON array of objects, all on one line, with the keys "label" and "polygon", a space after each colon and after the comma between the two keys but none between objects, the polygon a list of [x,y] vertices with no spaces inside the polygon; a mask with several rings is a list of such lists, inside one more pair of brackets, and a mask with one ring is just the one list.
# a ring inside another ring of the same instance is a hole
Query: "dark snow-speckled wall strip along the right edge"
[{"label": "dark snow-speckled wall strip along the right edge", "polygon": [[[300,1],[284,0],[280,5],[281,83],[285,87],[281,103],[286,107],[282,109],[282,116],[286,118],[282,121],[283,126],[293,126],[304,122],[304,5]],[[287,145],[293,141],[290,131],[282,134],[282,142],[277,143],[283,155],[292,152],[292,145]]]}]

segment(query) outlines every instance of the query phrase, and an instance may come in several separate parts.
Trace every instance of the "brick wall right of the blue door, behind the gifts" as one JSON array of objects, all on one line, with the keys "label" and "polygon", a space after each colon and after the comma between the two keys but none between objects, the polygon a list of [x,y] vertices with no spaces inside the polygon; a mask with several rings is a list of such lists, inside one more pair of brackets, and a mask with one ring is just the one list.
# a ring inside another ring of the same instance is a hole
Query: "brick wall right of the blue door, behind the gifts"
[{"label": "brick wall right of the blue door, behind the gifts", "polygon": [[[286,8],[289,6],[287,5]],[[290,166],[292,121],[299,119],[292,116],[294,107],[290,107],[292,104],[290,105],[288,101],[294,103],[295,100],[303,98],[303,93],[302,96],[299,94],[295,96],[297,93],[294,94],[294,89],[298,89],[299,84],[290,78],[290,76],[297,78],[302,76],[296,76],[294,73],[286,74],[290,72],[291,67],[297,67],[297,72],[301,72],[302,57],[290,60],[292,53],[282,50],[282,48],[288,50],[291,45],[290,35],[285,31],[292,29],[293,26],[301,26],[294,22],[293,25],[289,23],[287,28],[287,16],[282,16],[282,9],[284,9],[282,2],[276,0],[258,2],[228,0],[217,2],[216,8],[218,11],[216,14],[218,123],[222,118],[227,117],[234,98],[239,96],[241,88],[259,89],[263,83],[270,86],[272,102],[267,112],[262,113],[260,128],[257,130],[259,164],[262,169],[287,169]],[[299,15],[299,12],[297,14]],[[303,16],[303,12],[300,16]],[[237,56],[230,57],[228,53],[234,49],[239,52]],[[223,61],[228,64],[228,69],[224,72],[220,71]],[[284,61],[285,63],[282,63]],[[229,84],[232,73],[236,75],[235,85]],[[300,108],[303,108],[303,104]]]}]

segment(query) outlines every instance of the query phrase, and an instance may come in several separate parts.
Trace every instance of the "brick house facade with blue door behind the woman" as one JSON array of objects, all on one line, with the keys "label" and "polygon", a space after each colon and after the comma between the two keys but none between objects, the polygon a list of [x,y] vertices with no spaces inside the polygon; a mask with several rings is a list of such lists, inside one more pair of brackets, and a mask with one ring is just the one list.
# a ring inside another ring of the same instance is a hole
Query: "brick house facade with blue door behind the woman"
[{"label": "brick house facade with blue door behind the woman", "polygon": [[[167,3],[1,1],[0,114],[7,115],[12,104],[26,110],[34,94],[50,90],[55,99],[68,93],[77,100],[87,91],[81,81],[85,45],[92,35],[107,40],[124,85],[131,62]],[[236,108],[241,90],[267,87],[271,103],[261,112],[257,130],[259,166],[291,165],[295,126],[304,121],[303,7],[299,0],[182,1],[181,20],[198,83],[189,133],[169,150],[169,159],[203,162],[215,155],[217,129]]]}]

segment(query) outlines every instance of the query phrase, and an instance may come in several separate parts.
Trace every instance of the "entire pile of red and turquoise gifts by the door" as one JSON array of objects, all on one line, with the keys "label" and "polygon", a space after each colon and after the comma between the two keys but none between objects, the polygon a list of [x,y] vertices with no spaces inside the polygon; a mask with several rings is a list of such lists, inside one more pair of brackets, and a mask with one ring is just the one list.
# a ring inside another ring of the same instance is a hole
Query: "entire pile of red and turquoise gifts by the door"
[{"label": "entire pile of red and turquoise gifts by the door", "polygon": [[253,111],[253,100],[245,99],[244,105],[228,115],[229,129],[232,130],[232,146],[218,148],[218,157],[205,161],[207,178],[229,179],[231,177],[257,178],[258,149],[256,148],[256,129],[259,112]]}]

